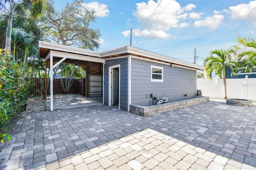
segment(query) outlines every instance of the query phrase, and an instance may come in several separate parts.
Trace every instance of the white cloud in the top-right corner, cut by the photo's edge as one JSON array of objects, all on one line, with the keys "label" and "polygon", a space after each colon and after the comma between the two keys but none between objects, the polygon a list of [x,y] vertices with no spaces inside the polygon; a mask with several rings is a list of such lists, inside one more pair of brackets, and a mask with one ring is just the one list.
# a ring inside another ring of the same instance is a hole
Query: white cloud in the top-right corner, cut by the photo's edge
[{"label": "white cloud in the top-right corner, cut by the photo's edge", "polygon": [[230,6],[231,18],[233,20],[248,20],[256,27],[256,1],[251,1],[249,4],[239,4]]}]

